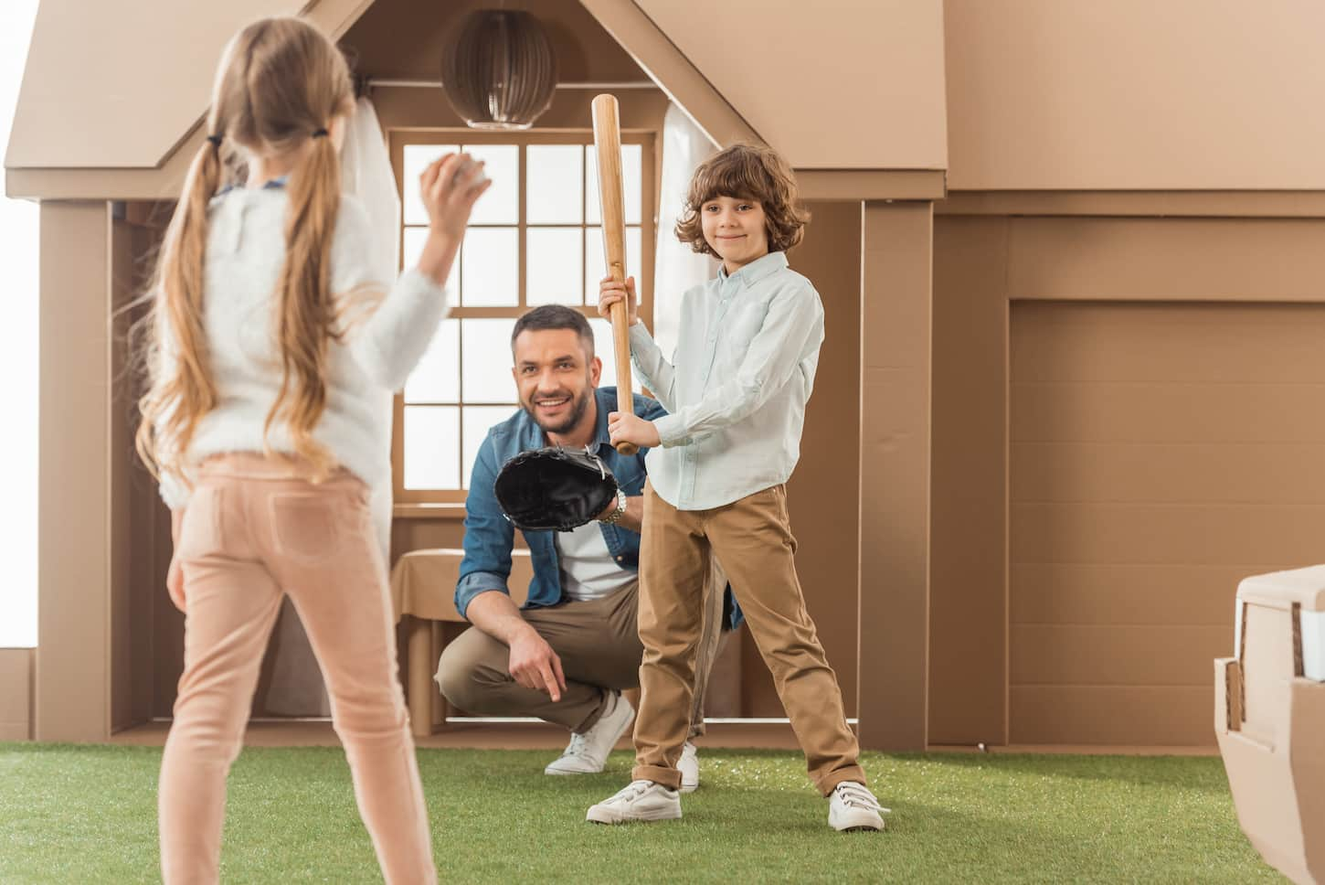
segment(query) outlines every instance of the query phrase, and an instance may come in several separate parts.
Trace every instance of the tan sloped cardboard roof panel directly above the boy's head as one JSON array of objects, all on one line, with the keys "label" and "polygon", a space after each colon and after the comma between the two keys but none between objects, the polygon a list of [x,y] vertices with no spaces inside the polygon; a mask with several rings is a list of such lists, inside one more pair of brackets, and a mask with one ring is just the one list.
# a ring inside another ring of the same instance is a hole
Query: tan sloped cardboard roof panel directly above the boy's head
[{"label": "tan sloped cardboard roof panel directly above the boy's head", "polygon": [[941,0],[636,0],[796,170],[946,170]]}]

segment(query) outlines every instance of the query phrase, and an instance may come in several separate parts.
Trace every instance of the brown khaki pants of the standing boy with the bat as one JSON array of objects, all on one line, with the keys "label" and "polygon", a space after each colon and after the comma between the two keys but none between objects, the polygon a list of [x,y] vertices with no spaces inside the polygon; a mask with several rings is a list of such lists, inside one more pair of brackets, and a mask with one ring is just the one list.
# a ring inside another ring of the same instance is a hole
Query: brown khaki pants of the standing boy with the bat
[{"label": "brown khaki pants of the standing boy with the bat", "polygon": [[677,510],[645,485],[640,546],[644,662],[635,719],[635,779],[673,790],[681,783],[676,763],[688,723],[678,711],[690,709],[697,612],[704,609],[700,576],[716,555],[772,673],[810,778],[825,796],[843,780],[865,782],[837,676],[806,611],[795,552],[784,486],[712,510]]}]

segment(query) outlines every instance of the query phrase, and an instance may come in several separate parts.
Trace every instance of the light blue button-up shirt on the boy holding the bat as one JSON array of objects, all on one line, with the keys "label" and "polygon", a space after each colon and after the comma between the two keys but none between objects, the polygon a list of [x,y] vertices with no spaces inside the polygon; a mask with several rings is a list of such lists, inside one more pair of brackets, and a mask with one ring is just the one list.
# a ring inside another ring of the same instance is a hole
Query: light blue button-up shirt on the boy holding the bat
[{"label": "light blue button-up shirt on the boy holding the bat", "polygon": [[669,412],[648,454],[659,495],[708,510],[786,482],[823,339],[819,293],[782,252],[686,291],[672,362],[644,323],[631,326],[635,367]]}]

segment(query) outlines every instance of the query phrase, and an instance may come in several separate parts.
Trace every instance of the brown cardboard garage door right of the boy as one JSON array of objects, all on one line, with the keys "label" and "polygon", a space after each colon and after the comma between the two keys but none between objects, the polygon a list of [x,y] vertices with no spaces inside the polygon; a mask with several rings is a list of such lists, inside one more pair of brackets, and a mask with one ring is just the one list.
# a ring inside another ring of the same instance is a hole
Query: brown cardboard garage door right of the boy
[{"label": "brown cardboard garage door right of the boy", "polygon": [[1212,742],[1238,580],[1320,558],[1322,337],[1321,305],[1012,305],[1014,742]]}]

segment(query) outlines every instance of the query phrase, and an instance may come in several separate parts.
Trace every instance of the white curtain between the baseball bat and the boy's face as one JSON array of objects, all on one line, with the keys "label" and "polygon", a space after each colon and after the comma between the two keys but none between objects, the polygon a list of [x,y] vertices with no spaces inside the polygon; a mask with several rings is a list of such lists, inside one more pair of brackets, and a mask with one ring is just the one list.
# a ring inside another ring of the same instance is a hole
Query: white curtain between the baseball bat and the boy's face
[{"label": "white curtain between the baseball bat and the boy's face", "polygon": [[681,295],[718,273],[718,262],[692,252],[676,238],[685,192],[700,163],[717,152],[698,126],[677,105],[662,119],[662,184],[659,200],[657,257],[653,261],[653,339],[664,354],[676,351]]}]

